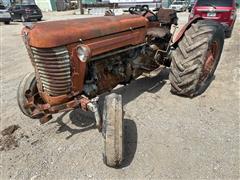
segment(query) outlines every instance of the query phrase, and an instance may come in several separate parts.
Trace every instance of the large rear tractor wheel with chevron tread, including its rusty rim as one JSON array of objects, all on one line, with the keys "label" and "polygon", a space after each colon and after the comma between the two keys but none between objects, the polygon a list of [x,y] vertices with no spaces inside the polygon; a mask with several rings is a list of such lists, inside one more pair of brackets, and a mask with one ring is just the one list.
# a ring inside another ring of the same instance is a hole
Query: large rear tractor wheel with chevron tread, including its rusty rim
[{"label": "large rear tractor wheel with chevron tread, including its rusty rim", "polygon": [[216,70],[223,44],[221,24],[212,20],[192,24],[172,52],[171,92],[187,97],[203,93]]}]

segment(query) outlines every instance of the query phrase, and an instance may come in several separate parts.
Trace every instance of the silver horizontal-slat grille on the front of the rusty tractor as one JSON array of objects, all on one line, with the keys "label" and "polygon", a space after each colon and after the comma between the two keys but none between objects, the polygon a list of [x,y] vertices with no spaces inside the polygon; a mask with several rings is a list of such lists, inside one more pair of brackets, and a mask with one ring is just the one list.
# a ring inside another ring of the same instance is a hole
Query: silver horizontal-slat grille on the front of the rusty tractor
[{"label": "silver horizontal-slat grille on the front of the rusty tractor", "polygon": [[31,49],[43,90],[52,96],[69,93],[71,70],[68,50],[65,47]]}]

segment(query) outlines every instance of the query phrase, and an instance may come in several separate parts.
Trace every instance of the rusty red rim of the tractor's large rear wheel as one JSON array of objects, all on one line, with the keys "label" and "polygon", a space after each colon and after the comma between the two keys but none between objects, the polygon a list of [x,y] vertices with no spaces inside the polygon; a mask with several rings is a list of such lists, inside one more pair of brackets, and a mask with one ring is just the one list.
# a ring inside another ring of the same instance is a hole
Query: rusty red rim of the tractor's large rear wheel
[{"label": "rusty red rim of the tractor's large rear wheel", "polygon": [[217,62],[218,52],[219,52],[219,45],[217,41],[214,41],[207,51],[207,56],[203,65],[200,82],[207,80],[209,78],[209,75],[212,74]]}]

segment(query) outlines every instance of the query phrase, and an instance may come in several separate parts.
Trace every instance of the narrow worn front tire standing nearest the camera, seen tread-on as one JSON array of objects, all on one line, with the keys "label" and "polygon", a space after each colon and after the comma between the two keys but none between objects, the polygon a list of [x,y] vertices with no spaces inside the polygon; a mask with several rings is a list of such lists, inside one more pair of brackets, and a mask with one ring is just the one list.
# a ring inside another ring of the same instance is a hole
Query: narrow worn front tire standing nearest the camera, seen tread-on
[{"label": "narrow worn front tire standing nearest the camera, seen tread-on", "polygon": [[102,134],[104,138],[104,163],[118,167],[123,161],[123,108],[122,96],[106,96],[103,109]]}]

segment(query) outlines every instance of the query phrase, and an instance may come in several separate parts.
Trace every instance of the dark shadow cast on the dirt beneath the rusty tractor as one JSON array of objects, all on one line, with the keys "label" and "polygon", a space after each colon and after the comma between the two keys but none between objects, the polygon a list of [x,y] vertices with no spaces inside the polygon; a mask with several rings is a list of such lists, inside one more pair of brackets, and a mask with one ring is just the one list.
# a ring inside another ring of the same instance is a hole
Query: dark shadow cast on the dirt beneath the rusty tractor
[{"label": "dark shadow cast on the dirt beneath the rusty tractor", "polygon": [[[128,104],[129,102],[136,99],[138,96],[143,94],[144,92],[148,93],[156,93],[162,89],[162,87],[166,84],[166,80],[168,79],[169,70],[163,70],[160,75],[153,78],[139,78],[127,86],[122,86],[119,88],[115,88],[110,93],[117,93],[122,95],[123,105]],[[102,113],[102,107],[104,103],[105,96],[110,93],[104,93],[99,97],[99,107],[100,113]],[[63,121],[65,116],[69,116],[68,122]],[[56,118],[55,121],[51,121],[49,123],[57,123],[59,125],[56,133],[69,132],[70,135],[66,137],[66,139],[71,138],[72,136],[96,129],[95,126],[95,118],[93,113],[84,112],[80,109],[75,109],[70,112],[64,112],[59,117]],[[134,159],[135,152],[137,150],[137,142],[138,142],[138,132],[137,126],[134,120],[124,119],[124,161],[119,168],[127,167],[131,164]],[[75,127],[71,127],[74,125]]]}]

